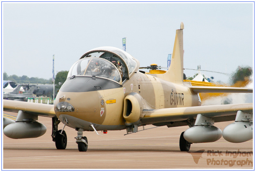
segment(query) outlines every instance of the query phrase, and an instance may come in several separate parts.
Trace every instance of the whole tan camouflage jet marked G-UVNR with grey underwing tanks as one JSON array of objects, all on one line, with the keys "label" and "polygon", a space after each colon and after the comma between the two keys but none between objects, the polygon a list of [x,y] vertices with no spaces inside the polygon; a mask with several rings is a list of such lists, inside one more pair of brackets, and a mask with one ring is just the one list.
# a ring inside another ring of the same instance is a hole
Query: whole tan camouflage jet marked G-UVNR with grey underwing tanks
[{"label": "whole tan camouflage jet marked G-UVNR with grey underwing tanks", "polygon": [[[138,126],[175,127],[188,125],[180,135],[180,150],[191,143],[213,142],[221,136],[230,142],[252,139],[252,104],[200,106],[199,92],[252,92],[250,88],[192,86],[183,81],[183,29],[176,30],[170,68],[164,74],[138,71],[139,61],[115,47],[92,49],[70,68],[54,105],[4,100],[5,111],[18,111],[16,122],[4,128],[13,139],[43,135],[46,127],[37,117],[52,118],[52,140],[65,149],[65,126],[77,131],[79,151],[87,151],[84,131],[126,130],[139,132]],[[214,122],[231,121],[221,131]],[[64,124],[58,130],[58,124]],[[33,132],[32,132],[33,131]]]}]

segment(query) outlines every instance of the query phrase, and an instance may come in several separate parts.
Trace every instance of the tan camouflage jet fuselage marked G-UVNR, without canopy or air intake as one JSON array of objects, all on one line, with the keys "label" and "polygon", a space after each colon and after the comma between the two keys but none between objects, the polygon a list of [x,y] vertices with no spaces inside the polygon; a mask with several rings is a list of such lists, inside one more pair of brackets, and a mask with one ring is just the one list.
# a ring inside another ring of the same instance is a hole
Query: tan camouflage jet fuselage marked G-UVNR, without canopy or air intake
[{"label": "tan camouflage jet fuselage marked G-UVNR, without canopy or air intake", "polygon": [[[131,79],[118,84],[106,78],[75,76],[67,78],[55,99],[55,112],[61,122],[72,128],[90,131],[122,130],[124,98],[138,93],[151,109],[197,106],[198,96],[184,85],[136,72]],[[67,102],[74,111],[56,111],[56,104]]]}]

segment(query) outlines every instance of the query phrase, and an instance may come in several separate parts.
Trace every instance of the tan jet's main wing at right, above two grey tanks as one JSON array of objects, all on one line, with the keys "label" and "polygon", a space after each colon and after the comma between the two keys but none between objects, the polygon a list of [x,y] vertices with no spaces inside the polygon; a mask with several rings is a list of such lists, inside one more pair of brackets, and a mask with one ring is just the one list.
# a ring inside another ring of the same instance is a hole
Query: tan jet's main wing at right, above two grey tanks
[{"label": "tan jet's main wing at right, above two grey tanks", "polygon": [[[189,125],[196,119],[197,114],[208,118],[214,118],[215,122],[235,120],[238,110],[252,113],[253,105],[248,104],[224,104],[193,107],[177,107],[163,109],[144,109],[141,114],[142,124],[153,124],[168,127]],[[191,124],[192,125],[192,124]]]}]

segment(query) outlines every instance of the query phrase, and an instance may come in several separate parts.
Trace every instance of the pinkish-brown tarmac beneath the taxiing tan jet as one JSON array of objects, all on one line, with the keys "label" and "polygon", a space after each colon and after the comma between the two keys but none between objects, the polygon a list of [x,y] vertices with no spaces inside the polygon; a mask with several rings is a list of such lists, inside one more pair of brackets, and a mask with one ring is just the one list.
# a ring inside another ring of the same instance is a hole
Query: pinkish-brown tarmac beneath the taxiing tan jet
[{"label": "pinkish-brown tarmac beneath the taxiing tan jet", "polygon": [[[17,113],[4,112],[16,116]],[[191,144],[189,152],[181,152],[181,132],[188,126],[161,126],[133,134],[126,130],[108,131],[103,136],[83,132],[88,139],[87,152],[79,152],[75,129],[65,127],[67,148],[57,150],[52,141],[52,120],[38,117],[47,127],[46,133],[33,139],[10,139],[2,136],[2,170],[6,169],[254,169],[253,141],[230,143],[221,137],[212,143]],[[221,130],[233,121],[215,123]],[[63,124],[59,124],[62,129]],[[146,125],[145,128],[153,127]],[[141,130],[142,127],[139,127]]]}]

